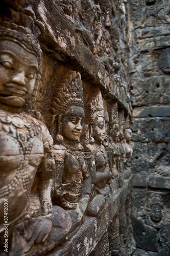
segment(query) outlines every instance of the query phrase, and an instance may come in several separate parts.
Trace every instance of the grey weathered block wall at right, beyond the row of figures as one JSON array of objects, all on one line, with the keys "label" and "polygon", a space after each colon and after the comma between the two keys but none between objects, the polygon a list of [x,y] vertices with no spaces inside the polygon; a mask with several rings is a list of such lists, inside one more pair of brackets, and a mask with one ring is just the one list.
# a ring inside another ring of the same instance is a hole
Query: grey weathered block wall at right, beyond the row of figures
[{"label": "grey weathered block wall at right, beyond the row of figures", "polygon": [[135,255],[169,255],[169,1],[129,1]]}]

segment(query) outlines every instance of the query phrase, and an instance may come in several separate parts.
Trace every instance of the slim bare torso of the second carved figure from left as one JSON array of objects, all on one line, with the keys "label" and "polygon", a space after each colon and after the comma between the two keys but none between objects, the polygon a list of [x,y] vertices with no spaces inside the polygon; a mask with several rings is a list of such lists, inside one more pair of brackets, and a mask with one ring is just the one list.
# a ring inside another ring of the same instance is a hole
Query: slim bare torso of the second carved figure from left
[{"label": "slim bare torso of the second carved figure from left", "polygon": [[63,196],[60,201],[77,202],[82,197],[83,178],[89,177],[83,152],[64,145],[54,145],[54,156],[62,179],[60,189]]}]

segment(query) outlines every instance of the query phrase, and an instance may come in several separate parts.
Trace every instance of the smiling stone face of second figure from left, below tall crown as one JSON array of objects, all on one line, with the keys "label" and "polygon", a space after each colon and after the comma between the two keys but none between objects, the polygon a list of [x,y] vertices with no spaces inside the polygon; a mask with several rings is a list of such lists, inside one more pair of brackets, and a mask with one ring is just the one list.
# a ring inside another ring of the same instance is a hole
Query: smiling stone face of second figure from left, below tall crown
[{"label": "smiling stone face of second figure from left, below tall crown", "polygon": [[77,141],[83,128],[84,110],[81,106],[71,106],[62,119],[61,135],[64,139]]}]

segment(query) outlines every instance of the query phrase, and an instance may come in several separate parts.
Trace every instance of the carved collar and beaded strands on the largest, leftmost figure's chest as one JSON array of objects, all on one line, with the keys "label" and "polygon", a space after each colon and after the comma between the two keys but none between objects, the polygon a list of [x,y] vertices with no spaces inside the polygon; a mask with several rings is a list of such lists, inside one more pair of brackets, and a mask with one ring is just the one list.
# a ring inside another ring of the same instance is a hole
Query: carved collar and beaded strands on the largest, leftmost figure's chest
[{"label": "carved collar and beaded strands on the largest, leftmost figure's chest", "polygon": [[[21,161],[15,177],[8,185],[0,189],[0,197],[9,195],[20,183],[22,183],[27,195],[30,193],[31,187],[28,173],[29,155],[35,141],[36,134],[40,131],[40,127],[35,119],[30,118],[30,122],[27,119],[28,116],[25,114],[18,115],[1,111],[0,124],[2,125],[3,130],[12,136],[16,143],[19,144]],[[27,137],[22,135],[21,129],[24,128],[28,131]],[[20,129],[20,131],[18,131],[18,129]]]}]

